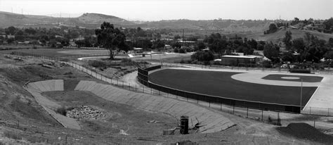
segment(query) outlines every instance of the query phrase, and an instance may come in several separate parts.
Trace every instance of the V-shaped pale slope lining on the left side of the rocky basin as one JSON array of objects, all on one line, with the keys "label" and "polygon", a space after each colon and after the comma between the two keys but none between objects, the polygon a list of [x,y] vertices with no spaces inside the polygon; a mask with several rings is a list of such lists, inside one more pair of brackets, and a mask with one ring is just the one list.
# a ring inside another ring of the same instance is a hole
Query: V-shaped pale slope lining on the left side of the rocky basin
[{"label": "V-shaped pale slope lining on the left side of the rocky basin", "polygon": [[53,91],[63,91],[63,80],[46,80],[40,82],[30,82],[25,85],[24,88],[34,96],[34,99],[41,105],[55,120],[60,122],[61,125],[67,128],[81,130],[77,120],[73,118],[67,118],[64,115],[55,113],[55,110],[61,108],[58,103],[55,103],[45,96],[42,96],[42,92],[53,92]]}]

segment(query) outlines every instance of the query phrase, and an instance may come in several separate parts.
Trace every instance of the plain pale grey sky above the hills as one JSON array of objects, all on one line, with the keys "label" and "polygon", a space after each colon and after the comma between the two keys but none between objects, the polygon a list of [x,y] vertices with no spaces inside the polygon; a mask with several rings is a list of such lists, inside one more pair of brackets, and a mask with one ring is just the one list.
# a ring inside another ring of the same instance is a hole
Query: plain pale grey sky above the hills
[{"label": "plain pale grey sky above the hills", "polygon": [[[0,11],[50,15],[103,13],[129,20],[263,20],[327,19],[333,17],[333,0],[0,0]],[[55,16],[55,15],[53,15]]]}]

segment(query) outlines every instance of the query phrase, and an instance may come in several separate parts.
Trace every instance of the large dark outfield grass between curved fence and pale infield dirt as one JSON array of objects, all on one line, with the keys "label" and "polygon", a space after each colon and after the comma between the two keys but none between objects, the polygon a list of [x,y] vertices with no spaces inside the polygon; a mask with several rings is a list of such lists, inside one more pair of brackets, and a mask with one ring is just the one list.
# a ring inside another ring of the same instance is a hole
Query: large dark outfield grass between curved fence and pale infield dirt
[{"label": "large dark outfield grass between curved fence and pale infield dirt", "polygon": [[[149,75],[149,80],[174,89],[221,96],[247,101],[300,105],[301,87],[254,84],[233,80],[239,73],[201,70],[159,70]],[[317,87],[303,87],[302,106],[305,106]]]}]

